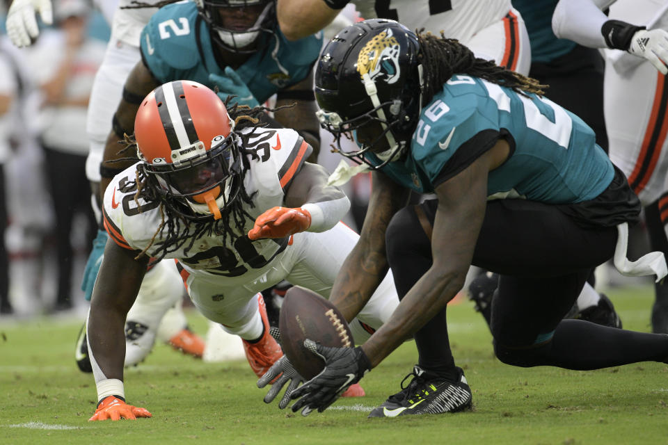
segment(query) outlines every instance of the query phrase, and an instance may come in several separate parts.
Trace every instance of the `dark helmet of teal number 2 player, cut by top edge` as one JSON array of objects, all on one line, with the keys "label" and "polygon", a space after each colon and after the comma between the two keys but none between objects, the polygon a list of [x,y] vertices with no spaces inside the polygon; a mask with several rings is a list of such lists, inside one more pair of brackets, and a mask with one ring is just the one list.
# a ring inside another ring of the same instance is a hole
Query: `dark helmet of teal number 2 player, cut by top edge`
[{"label": "dark helmet of teal number 2 player, cut by top edge", "polygon": [[196,0],[200,15],[209,24],[212,38],[237,54],[262,48],[255,44],[262,34],[274,35],[276,0]]}]

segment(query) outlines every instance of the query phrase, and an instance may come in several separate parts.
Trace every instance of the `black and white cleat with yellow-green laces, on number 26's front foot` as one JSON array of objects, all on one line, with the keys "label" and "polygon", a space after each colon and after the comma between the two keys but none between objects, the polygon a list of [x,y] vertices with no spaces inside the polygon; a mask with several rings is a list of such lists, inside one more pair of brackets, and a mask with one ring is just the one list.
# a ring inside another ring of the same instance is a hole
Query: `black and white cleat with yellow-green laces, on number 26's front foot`
[{"label": "black and white cleat with yellow-green laces, on number 26's front foot", "polygon": [[[407,378],[413,377],[404,388]],[[442,414],[470,410],[471,389],[464,377],[464,371],[457,368],[455,382],[415,366],[413,372],[401,380],[401,391],[374,408],[369,417],[397,417],[408,414]]]}]

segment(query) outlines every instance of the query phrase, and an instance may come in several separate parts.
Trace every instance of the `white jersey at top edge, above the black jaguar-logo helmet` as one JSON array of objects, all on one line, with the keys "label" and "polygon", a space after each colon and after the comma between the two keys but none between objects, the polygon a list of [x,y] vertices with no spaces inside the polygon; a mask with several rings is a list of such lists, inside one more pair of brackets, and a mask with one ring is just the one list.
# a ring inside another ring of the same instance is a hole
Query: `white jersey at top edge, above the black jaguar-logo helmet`
[{"label": "white jersey at top edge, above the black jaguar-logo helmet", "polygon": [[433,34],[466,44],[477,31],[509,12],[511,0],[353,0],[360,16],[393,18],[415,31],[424,28]]}]

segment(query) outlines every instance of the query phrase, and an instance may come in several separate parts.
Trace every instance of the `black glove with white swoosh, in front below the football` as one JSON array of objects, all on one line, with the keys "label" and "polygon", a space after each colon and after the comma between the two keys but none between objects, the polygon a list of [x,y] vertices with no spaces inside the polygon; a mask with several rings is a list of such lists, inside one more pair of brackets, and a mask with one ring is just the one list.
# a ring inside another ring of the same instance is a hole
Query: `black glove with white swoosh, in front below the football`
[{"label": "black glove with white swoosh, in front below the football", "polygon": [[[308,416],[317,408],[323,412],[353,383],[360,381],[371,370],[371,362],[362,348],[330,348],[305,339],[304,346],[325,361],[325,369],[292,391],[290,398],[299,398],[292,411],[301,408],[302,416]],[[301,398],[300,398],[301,397]]]}]

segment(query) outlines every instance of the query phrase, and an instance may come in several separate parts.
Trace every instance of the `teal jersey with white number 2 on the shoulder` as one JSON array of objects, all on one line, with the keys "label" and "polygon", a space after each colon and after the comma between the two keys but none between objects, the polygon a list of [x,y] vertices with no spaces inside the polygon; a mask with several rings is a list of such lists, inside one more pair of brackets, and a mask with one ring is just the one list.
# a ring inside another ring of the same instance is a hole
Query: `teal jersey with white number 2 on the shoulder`
[{"label": "teal jersey with white number 2 on the shoulder", "polygon": [[[262,103],[278,90],[310,76],[322,45],[321,33],[289,42],[276,29],[267,47],[255,52],[236,72]],[[161,82],[188,79],[214,88],[209,73],[225,75],[214,58],[207,23],[198,19],[193,1],[160,8],[141,32],[141,53],[149,70]]]}]

